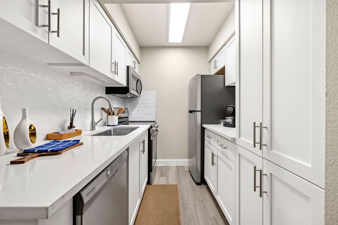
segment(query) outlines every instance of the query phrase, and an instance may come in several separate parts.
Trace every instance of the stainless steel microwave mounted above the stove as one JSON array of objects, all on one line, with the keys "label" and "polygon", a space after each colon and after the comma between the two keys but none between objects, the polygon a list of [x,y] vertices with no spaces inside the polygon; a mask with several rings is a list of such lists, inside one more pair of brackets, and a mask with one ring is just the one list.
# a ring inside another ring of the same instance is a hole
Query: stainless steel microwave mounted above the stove
[{"label": "stainless steel microwave mounted above the stove", "polygon": [[127,66],[126,87],[105,87],[105,94],[110,94],[119,98],[137,98],[141,95],[141,92],[141,77],[131,66]]}]

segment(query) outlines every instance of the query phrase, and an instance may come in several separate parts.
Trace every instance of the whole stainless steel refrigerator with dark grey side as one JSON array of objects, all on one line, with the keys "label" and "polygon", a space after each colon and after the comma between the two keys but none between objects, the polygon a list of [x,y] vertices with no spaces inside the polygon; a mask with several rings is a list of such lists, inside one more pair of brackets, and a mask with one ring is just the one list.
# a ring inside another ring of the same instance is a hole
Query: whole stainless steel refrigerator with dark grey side
[{"label": "whole stainless steel refrigerator with dark grey side", "polygon": [[195,75],[188,93],[189,171],[197,184],[204,180],[204,129],[225,118],[225,108],[235,105],[235,87],[224,86],[224,75]]}]

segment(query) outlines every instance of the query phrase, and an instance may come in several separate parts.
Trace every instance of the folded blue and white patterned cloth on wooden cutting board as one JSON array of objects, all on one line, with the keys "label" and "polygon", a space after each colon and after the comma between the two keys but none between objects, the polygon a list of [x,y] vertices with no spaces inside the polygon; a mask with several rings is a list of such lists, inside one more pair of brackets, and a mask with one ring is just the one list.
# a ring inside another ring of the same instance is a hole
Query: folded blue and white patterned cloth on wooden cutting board
[{"label": "folded blue and white patterned cloth on wooden cutting board", "polygon": [[45,153],[45,152],[60,152],[65,148],[78,144],[80,140],[52,140],[51,142],[36,146],[34,148],[26,149],[23,153]]}]

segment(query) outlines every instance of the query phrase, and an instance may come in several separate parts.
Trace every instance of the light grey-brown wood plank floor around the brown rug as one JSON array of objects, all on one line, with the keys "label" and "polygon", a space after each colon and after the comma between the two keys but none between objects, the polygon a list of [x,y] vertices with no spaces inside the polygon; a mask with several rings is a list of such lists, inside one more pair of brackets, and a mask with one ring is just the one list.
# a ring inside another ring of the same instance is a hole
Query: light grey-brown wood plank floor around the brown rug
[{"label": "light grey-brown wood plank floor around the brown rug", "polygon": [[208,185],[196,185],[187,166],[157,166],[154,184],[178,184],[182,225],[229,225]]}]

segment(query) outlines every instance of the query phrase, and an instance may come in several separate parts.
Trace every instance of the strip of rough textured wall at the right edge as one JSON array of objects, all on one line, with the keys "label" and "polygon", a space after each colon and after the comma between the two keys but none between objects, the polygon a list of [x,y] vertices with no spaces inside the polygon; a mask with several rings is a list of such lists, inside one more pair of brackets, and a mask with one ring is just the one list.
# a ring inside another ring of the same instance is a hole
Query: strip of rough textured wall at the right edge
[{"label": "strip of rough textured wall at the right edge", "polygon": [[325,224],[338,224],[338,1],[326,0]]}]

